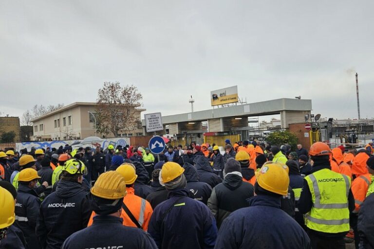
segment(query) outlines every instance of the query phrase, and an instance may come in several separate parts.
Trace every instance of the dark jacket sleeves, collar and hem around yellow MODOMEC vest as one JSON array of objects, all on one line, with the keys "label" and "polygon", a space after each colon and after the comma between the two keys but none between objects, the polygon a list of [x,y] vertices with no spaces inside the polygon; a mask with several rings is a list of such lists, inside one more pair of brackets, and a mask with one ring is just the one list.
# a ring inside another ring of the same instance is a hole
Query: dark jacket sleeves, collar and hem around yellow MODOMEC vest
[{"label": "dark jacket sleeves, collar and hem around yellow MODOMEC vest", "polygon": [[[327,162],[326,165],[315,165],[312,168],[311,173],[317,172],[318,170],[321,169],[330,169],[331,166],[329,162]],[[299,209],[300,213],[308,213],[313,206],[313,201],[312,201],[312,193],[310,192],[308,182],[304,179],[304,185],[302,187],[300,199],[297,203],[297,208]],[[348,209],[349,212],[352,212],[355,210],[355,198],[353,197],[351,189],[349,190],[348,194]],[[328,233],[328,232],[321,232],[321,231],[314,231],[314,230],[309,230],[313,233],[315,233],[318,236],[322,237],[335,237],[335,238],[341,238],[344,237],[347,232],[338,232],[338,233]]]}]

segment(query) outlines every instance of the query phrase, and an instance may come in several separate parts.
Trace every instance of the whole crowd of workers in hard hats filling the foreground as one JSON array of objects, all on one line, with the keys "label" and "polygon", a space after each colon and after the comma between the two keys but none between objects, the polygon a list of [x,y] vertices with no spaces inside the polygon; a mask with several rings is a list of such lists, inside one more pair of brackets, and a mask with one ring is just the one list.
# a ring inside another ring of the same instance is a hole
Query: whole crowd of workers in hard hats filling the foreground
[{"label": "whole crowd of workers in hard hats filling the foreground", "polygon": [[371,249],[373,145],[0,150],[0,249]]}]

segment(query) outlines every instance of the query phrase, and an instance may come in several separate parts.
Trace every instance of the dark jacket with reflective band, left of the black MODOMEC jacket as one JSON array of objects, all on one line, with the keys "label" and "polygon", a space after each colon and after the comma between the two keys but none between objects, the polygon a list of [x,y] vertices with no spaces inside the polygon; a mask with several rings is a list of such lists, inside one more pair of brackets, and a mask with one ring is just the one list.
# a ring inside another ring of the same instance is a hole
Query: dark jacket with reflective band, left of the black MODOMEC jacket
[{"label": "dark jacket with reflective band, left of the black MODOMEC jacket", "polygon": [[15,224],[23,232],[29,249],[39,249],[35,234],[40,206],[39,196],[34,189],[23,184],[19,184],[17,193]]}]

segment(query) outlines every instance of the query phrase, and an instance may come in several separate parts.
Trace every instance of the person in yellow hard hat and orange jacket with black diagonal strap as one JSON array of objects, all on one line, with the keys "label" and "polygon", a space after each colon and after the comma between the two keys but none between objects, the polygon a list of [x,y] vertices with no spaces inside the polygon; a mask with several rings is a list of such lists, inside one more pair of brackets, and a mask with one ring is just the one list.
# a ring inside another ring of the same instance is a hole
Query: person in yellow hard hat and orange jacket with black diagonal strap
[{"label": "person in yellow hard hat and orange jacket with black diagonal strap", "polygon": [[[147,200],[134,195],[133,186],[138,177],[135,174],[135,166],[131,163],[123,163],[115,171],[121,174],[126,182],[127,195],[123,198],[121,211],[121,218],[123,219],[122,224],[124,226],[141,228],[142,230],[147,231],[153,210]],[[128,209],[127,211],[125,211],[126,208]],[[95,215],[95,212],[92,212],[88,226],[92,225],[93,217]],[[132,219],[130,217],[131,215]]]}]

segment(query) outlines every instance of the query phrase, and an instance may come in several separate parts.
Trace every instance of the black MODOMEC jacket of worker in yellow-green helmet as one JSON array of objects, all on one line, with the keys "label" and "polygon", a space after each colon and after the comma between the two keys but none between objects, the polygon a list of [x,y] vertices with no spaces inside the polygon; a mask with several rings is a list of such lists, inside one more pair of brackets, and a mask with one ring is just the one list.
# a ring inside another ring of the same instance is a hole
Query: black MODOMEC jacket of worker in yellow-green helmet
[{"label": "black MODOMEC jacket of worker in yellow-green helmet", "polygon": [[91,212],[82,184],[59,180],[40,206],[36,231],[42,248],[61,248],[67,237],[87,227]]}]

